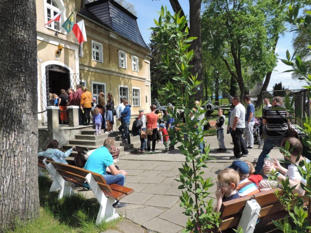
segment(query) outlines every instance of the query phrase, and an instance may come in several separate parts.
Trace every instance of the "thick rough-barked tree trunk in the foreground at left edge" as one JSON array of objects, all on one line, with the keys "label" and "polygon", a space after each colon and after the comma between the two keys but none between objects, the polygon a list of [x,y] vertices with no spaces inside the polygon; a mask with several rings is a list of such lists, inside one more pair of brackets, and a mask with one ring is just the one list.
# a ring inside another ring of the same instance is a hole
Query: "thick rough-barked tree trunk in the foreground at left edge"
[{"label": "thick rough-barked tree trunk in the foreground at left edge", "polygon": [[38,216],[35,0],[0,0],[0,232]]}]

